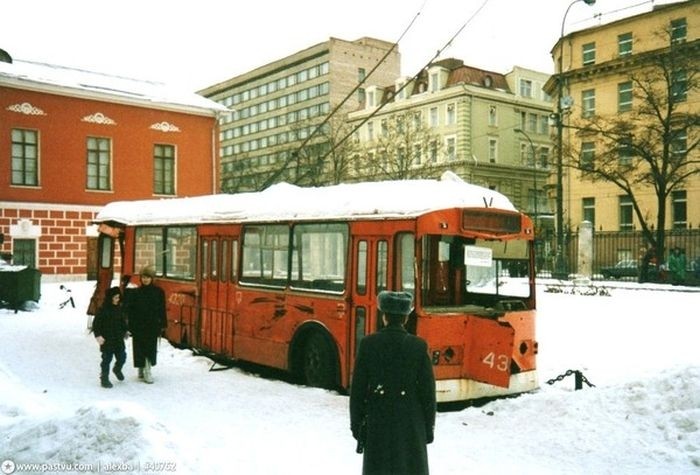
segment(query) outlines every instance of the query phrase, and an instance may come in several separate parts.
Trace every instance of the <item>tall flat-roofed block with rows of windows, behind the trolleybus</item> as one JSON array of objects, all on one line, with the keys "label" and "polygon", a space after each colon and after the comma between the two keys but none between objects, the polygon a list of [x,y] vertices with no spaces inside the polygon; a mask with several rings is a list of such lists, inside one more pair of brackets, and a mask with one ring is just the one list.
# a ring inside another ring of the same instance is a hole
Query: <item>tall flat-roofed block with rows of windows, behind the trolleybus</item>
[{"label": "tall flat-roofed block with rows of windows, behind the trolleybus", "polygon": [[220,124],[222,190],[314,183],[331,147],[320,125],[359,107],[366,78],[391,83],[399,74],[396,44],[330,38],[200,91],[232,110]]}]

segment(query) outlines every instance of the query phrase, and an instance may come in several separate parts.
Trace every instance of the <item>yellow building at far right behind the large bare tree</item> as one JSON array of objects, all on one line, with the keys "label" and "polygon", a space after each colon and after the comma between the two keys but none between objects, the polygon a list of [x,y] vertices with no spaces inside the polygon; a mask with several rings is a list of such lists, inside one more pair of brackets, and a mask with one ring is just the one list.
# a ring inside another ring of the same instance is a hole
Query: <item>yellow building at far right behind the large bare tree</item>
[{"label": "yellow building at far right behind the large bare tree", "polygon": [[[656,224],[659,206],[653,187],[633,183],[639,170],[648,168],[636,145],[648,139],[655,143],[645,147],[655,147],[660,155],[663,144],[651,126],[668,126],[673,132],[680,130],[681,122],[676,119],[697,117],[698,33],[700,1],[690,0],[573,32],[557,42],[552,50],[557,74],[545,89],[555,99],[562,97],[565,229],[575,230],[588,220],[597,231],[640,230],[629,195],[610,181],[591,179],[593,169],[605,170],[618,181],[629,181],[641,214],[652,226]],[[652,81],[652,74],[661,72],[660,58],[672,58],[674,51],[681,51],[681,55],[676,64],[667,63],[670,81],[664,82],[661,76]],[[561,83],[559,77],[563,77]],[[656,118],[649,119],[648,101],[642,96],[643,89],[652,84],[658,88],[655,97],[661,108]],[[673,95],[671,101],[668,90]],[[668,109],[671,102],[673,110]],[[697,170],[697,141],[696,123],[677,134],[670,144],[671,154],[694,161]],[[699,203],[700,175],[695,174],[669,193],[666,229],[700,227]]]}]

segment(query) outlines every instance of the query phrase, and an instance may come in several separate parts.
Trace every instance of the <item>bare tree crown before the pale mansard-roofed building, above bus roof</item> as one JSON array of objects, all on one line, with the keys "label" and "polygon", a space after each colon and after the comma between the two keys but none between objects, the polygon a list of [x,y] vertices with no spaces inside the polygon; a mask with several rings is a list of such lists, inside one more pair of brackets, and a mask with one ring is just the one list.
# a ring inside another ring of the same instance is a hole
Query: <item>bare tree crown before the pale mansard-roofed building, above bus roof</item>
[{"label": "bare tree crown before the pale mansard-roofed building, above bus roof", "polygon": [[378,138],[365,148],[360,174],[372,179],[408,180],[438,173],[440,136],[423,124],[420,111],[404,111],[380,121]]}]

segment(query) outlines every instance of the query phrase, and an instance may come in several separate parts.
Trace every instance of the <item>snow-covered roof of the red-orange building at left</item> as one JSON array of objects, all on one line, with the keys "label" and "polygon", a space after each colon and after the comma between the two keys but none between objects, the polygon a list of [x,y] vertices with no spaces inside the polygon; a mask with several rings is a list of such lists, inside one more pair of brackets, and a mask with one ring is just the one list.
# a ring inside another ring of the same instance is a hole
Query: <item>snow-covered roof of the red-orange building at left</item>
[{"label": "snow-covered roof of the red-orange building at left", "polygon": [[229,110],[194,92],[145,81],[46,63],[0,61],[0,86],[214,115]]}]

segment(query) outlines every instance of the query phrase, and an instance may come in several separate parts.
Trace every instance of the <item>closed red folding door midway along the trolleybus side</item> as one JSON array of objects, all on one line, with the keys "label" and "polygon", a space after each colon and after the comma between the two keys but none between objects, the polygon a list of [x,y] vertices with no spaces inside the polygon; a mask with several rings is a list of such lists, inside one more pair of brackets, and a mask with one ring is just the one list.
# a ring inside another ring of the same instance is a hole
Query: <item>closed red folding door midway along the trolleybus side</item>
[{"label": "closed red folding door midway along the trolleybus side", "polygon": [[232,239],[202,229],[200,233],[199,346],[232,355],[233,315],[228,309]]}]

